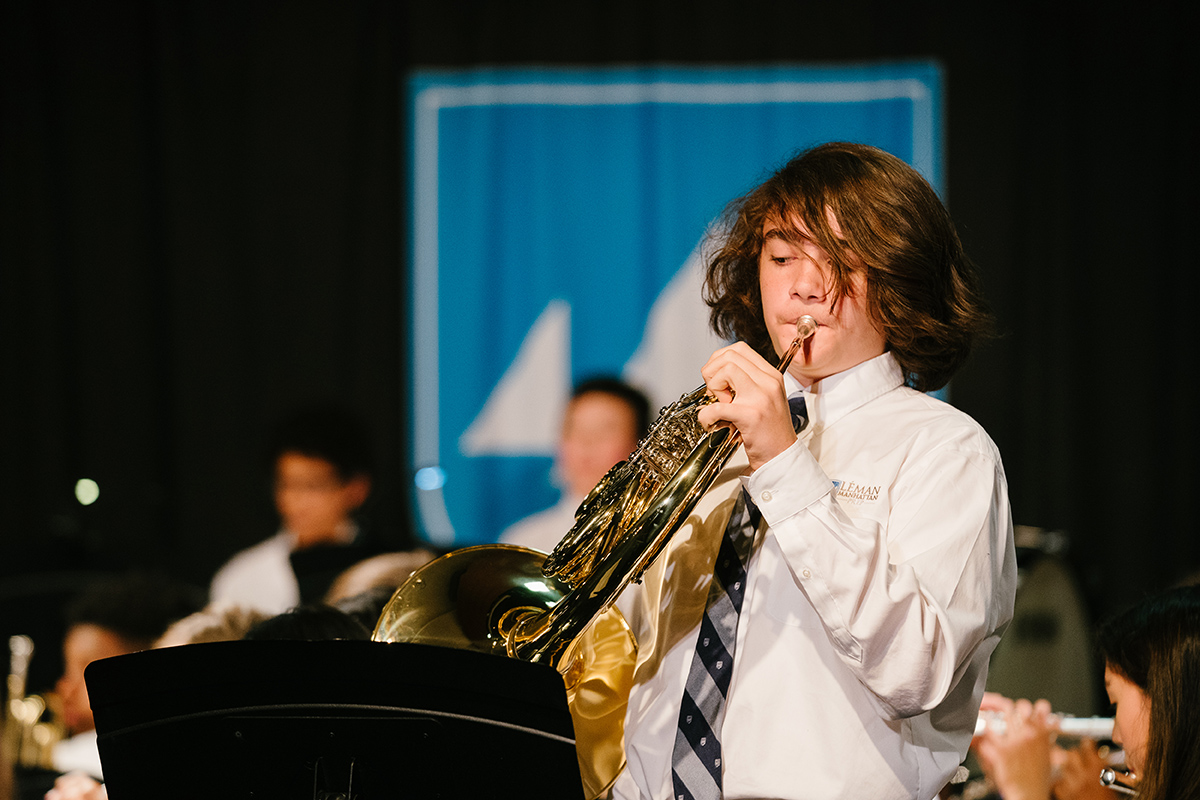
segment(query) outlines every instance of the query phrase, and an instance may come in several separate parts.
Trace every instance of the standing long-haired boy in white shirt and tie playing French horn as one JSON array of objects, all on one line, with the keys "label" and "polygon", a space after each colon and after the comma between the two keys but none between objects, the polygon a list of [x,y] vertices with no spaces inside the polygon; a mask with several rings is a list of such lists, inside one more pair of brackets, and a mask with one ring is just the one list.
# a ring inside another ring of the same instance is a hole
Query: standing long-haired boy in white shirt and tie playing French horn
[{"label": "standing long-haired boy in white shirt and tie playing French horn", "polygon": [[1016,581],[1000,453],[925,393],[989,327],[977,287],[875,148],[809,150],[731,206],[706,299],[737,342],[700,422],[744,449],[635,589],[614,796],[929,800],[955,771]]}]

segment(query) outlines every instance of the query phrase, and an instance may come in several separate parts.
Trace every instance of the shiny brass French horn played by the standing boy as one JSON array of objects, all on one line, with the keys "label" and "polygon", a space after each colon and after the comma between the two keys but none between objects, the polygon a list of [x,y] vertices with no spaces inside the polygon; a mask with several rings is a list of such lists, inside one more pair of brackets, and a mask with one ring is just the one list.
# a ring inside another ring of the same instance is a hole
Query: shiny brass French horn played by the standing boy
[{"label": "shiny brass French horn played by the standing boy", "polygon": [[[780,372],[816,329],[811,317],[797,321]],[[396,590],[372,634],[558,669],[588,798],[611,786],[625,759],[637,643],[612,603],[641,581],[742,444],[734,428],[701,428],[696,414],[712,402],[702,385],[662,409],[637,450],[583,499],[548,557],[506,545],[449,553]]]}]

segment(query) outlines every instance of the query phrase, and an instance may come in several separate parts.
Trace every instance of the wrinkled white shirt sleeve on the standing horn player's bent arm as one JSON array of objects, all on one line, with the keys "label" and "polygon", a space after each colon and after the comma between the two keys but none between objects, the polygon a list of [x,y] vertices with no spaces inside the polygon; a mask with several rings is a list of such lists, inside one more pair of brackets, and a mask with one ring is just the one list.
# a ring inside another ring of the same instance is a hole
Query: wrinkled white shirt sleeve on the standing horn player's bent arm
[{"label": "wrinkled white shirt sleeve on the standing horn player's bent arm", "polygon": [[1012,614],[1003,468],[974,445],[943,443],[880,487],[884,521],[847,513],[800,441],[743,479],[840,658],[892,718],[938,705]]}]

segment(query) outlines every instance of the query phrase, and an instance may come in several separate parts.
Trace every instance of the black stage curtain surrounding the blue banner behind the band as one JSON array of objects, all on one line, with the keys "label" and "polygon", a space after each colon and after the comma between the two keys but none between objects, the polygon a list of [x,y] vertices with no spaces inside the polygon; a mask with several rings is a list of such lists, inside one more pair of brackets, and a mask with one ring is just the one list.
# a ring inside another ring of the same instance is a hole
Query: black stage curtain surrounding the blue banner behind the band
[{"label": "black stage curtain surrounding the blue banner behind the band", "polygon": [[407,70],[935,58],[1000,323],[953,401],[1097,613],[1165,587],[1200,569],[1182,7],[8,0],[0,573],[205,582],[270,533],[263,431],[318,398],[370,420],[371,511],[409,540]]}]

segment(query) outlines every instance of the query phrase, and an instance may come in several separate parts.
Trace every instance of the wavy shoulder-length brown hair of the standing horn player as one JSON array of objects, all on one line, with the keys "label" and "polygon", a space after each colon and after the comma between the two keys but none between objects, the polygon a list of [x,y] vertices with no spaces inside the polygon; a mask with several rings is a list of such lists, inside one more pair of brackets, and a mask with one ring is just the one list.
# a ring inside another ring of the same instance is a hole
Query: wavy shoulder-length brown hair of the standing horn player
[{"label": "wavy shoulder-length brown hair of the standing horn player", "polygon": [[834,306],[850,290],[852,272],[863,271],[868,313],[914,389],[944,386],[974,342],[991,331],[974,266],[934,188],[878,148],[833,142],[792,158],[726,209],[709,240],[704,284],[720,336],[773,356],[758,287],[767,222],[829,254]]}]

